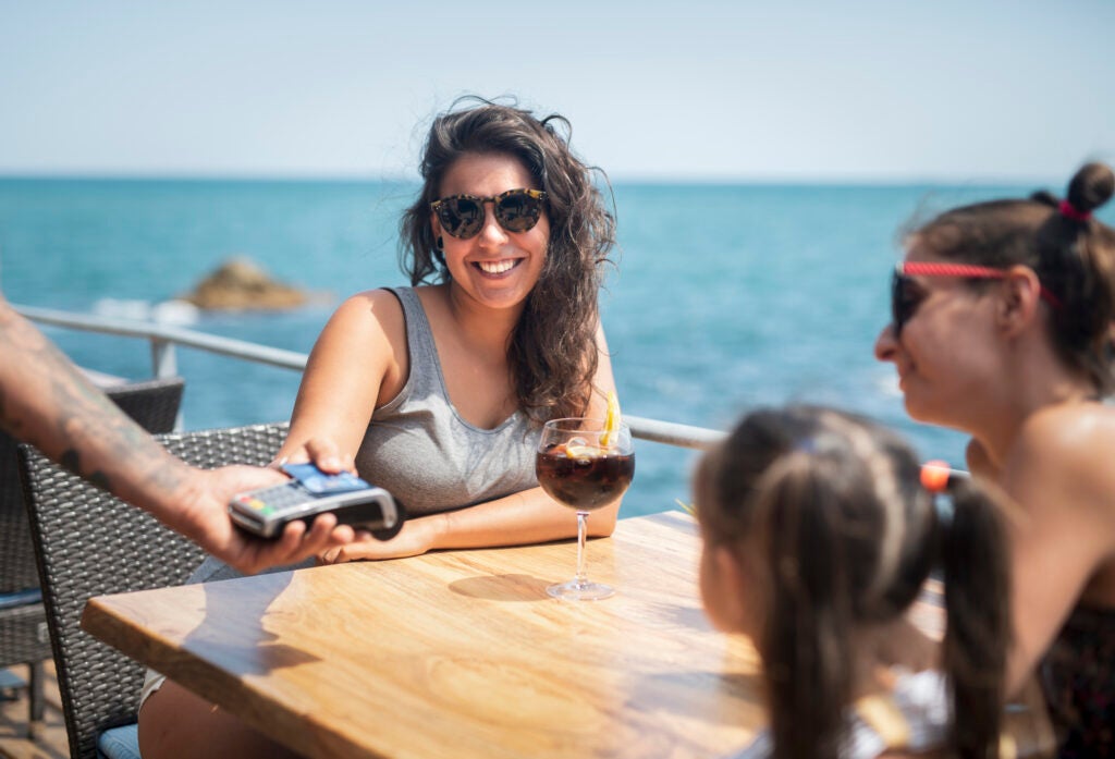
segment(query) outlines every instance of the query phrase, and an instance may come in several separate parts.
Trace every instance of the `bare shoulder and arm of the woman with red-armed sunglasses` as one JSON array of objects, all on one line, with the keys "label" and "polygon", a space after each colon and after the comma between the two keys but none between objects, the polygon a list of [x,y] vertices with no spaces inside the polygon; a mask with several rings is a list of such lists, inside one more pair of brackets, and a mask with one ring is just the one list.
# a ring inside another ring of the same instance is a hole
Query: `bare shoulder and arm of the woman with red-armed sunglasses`
[{"label": "bare shoulder and arm of the woman with red-armed sunglasses", "polygon": [[1041,411],[1005,461],[1015,644],[1012,695],[1034,672],[1089,581],[1115,554],[1115,411],[1096,405]]}]

